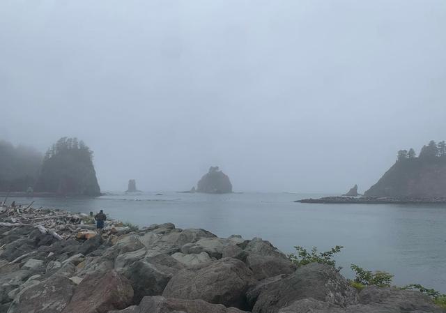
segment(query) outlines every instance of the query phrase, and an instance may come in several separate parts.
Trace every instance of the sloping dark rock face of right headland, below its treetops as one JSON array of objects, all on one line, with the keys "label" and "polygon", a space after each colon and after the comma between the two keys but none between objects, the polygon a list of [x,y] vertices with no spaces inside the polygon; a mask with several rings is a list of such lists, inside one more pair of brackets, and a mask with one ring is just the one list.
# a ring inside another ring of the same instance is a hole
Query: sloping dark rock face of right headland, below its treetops
[{"label": "sloping dark rock face of right headland, below its treetops", "polygon": [[446,155],[401,158],[364,196],[446,197]]}]

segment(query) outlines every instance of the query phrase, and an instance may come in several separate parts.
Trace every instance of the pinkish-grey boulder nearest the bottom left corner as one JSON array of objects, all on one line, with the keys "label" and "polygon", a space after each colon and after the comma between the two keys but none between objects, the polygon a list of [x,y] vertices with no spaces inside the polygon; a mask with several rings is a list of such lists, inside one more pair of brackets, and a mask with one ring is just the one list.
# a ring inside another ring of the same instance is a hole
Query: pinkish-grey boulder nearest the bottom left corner
[{"label": "pinkish-grey boulder nearest the bottom left corner", "polygon": [[75,284],[70,279],[55,275],[18,293],[8,313],[60,313],[74,292]]}]

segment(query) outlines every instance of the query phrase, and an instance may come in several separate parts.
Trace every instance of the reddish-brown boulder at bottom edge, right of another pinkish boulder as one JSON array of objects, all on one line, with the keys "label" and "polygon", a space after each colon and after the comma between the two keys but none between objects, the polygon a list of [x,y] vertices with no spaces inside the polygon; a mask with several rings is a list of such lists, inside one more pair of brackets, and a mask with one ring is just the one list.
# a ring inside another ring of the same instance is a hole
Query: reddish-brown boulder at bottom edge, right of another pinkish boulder
[{"label": "reddish-brown boulder at bottom edge, right of another pinkish boulder", "polygon": [[127,278],[114,270],[84,277],[63,313],[107,313],[132,303],[133,289]]}]

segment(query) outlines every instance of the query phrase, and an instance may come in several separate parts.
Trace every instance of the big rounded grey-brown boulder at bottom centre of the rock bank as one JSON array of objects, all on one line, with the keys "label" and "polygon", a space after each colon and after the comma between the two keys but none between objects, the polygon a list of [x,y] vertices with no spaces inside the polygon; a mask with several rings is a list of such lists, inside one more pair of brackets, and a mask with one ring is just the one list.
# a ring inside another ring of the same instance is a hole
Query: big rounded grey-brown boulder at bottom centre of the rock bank
[{"label": "big rounded grey-brown boulder at bottom centre of the rock bank", "polygon": [[238,259],[220,259],[180,270],[167,284],[166,298],[201,299],[226,307],[247,309],[245,293],[255,280],[251,270]]}]

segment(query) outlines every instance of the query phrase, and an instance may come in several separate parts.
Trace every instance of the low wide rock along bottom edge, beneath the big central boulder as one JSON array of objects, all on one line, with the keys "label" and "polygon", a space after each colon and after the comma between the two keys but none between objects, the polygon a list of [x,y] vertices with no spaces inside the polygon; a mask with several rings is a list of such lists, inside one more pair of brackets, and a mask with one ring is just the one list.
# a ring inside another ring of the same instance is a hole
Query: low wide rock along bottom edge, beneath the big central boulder
[{"label": "low wide rock along bottom edge, beneath the big central boulder", "polygon": [[235,307],[211,304],[203,300],[184,300],[161,296],[144,297],[139,305],[109,313],[243,313]]}]

